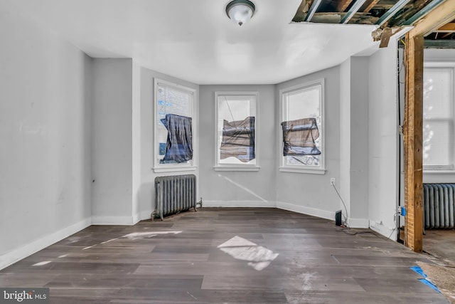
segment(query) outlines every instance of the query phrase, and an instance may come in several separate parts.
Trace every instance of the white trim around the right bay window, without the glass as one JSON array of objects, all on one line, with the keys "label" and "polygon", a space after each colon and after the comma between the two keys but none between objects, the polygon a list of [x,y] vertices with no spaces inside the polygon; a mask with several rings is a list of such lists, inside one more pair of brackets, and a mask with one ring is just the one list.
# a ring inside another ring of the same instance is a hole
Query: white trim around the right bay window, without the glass
[{"label": "white trim around the right bay window, without the glass", "polygon": [[309,88],[314,85],[321,85],[321,130],[319,130],[321,134],[321,158],[320,158],[320,165],[319,167],[297,167],[284,164],[284,157],[283,157],[283,132],[282,128],[278,128],[278,137],[279,138],[279,172],[291,172],[291,173],[303,173],[303,174],[326,174],[326,115],[325,115],[325,84],[324,78],[313,80],[307,83],[301,83],[299,85],[294,85],[289,88],[284,88],[279,90],[279,118],[280,122],[285,121],[284,117],[284,100],[283,95],[287,93],[291,93],[296,90],[302,90],[304,88]]}]

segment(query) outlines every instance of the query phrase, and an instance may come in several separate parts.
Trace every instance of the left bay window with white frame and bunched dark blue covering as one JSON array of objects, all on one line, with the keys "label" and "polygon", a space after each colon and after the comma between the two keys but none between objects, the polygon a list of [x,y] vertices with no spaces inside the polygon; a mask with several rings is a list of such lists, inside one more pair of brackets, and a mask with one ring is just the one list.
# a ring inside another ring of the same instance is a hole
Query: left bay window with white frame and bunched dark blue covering
[{"label": "left bay window with white frame and bunched dark blue covering", "polygon": [[154,171],[195,169],[196,90],[154,81]]}]

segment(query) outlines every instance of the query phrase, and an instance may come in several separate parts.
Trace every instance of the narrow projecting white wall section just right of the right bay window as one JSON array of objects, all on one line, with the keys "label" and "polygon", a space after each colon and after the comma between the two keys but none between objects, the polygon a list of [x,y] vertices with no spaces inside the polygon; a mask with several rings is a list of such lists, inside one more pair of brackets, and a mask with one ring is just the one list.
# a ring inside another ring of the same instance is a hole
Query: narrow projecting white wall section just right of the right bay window
[{"label": "narrow projecting white wall section just right of the right bay window", "polygon": [[368,58],[349,58],[340,68],[341,172],[338,185],[342,203],[346,205],[340,209],[350,227],[368,228]]}]

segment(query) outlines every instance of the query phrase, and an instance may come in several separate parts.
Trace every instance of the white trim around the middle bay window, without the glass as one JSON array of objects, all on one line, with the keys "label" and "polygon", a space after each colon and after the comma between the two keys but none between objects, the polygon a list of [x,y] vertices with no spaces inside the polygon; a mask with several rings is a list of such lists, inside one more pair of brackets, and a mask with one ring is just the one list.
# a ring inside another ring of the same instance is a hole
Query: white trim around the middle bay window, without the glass
[{"label": "white trim around the middle bay window, without the glass", "polygon": [[[218,164],[218,96],[255,96],[255,159],[256,164]],[[259,92],[215,92],[215,171],[259,171]]]}]

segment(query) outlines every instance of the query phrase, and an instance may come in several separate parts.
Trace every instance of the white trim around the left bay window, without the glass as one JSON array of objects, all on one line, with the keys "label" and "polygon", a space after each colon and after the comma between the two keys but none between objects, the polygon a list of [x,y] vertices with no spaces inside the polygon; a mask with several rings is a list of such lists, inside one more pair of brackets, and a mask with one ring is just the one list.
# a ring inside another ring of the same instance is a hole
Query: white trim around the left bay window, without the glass
[{"label": "white trim around the left bay window, without the glass", "polygon": [[[162,84],[162,85],[167,85],[167,86],[170,86],[170,87],[174,87],[178,90],[186,90],[188,91],[188,93],[191,93],[193,94],[193,107],[192,107],[192,110],[193,110],[193,115],[191,117],[191,121],[192,121],[192,132],[193,132],[193,159],[191,159],[191,163],[189,164],[160,164],[159,161],[158,161],[158,156],[159,156],[159,142],[157,140],[158,138],[158,128],[156,127],[156,125],[158,125],[158,85],[159,84]],[[181,172],[181,171],[196,171],[196,168],[197,168],[197,155],[198,155],[198,149],[197,149],[197,143],[198,143],[198,140],[197,140],[197,136],[198,136],[198,130],[197,130],[197,114],[198,114],[198,108],[197,108],[197,100],[198,100],[198,96],[197,96],[197,90],[194,89],[194,88],[188,88],[186,86],[183,86],[183,85],[179,85],[177,83],[171,83],[169,81],[166,81],[166,80],[161,80],[159,78],[154,78],[154,87],[153,87],[153,90],[154,90],[154,112],[153,112],[153,128],[154,128],[154,138],[153,138],[153,152],[152,152],[152,156],[154,158],[154,167],[152,167],[152,169],[154,170],[154,172],[158,173],[158,172]]]}]

